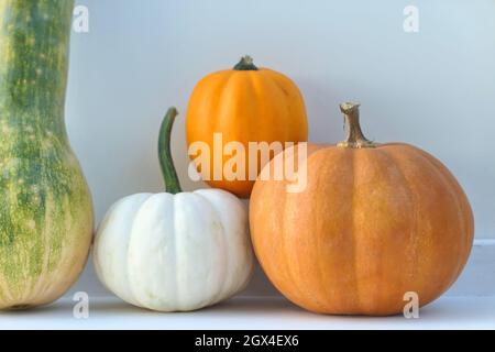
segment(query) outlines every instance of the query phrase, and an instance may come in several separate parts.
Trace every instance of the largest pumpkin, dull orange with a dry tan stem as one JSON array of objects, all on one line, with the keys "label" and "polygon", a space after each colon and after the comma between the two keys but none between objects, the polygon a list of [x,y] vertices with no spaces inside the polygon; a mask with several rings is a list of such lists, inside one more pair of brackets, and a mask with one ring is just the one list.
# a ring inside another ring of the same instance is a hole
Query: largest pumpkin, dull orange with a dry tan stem
[{"label": "largest pumpkin, dull orange with a dry tan stem", "polygon": [[[288,299],[315,312],[398,314],[406,293],[426,305],[469,257],[474,223],[466,196],[437,158],[413,145],[367,141],[359,106],[341,109],[348,139],[308,147],[304,191],[256,182],[256,255]],[[295,152],[287,148],[272,166]]]}]

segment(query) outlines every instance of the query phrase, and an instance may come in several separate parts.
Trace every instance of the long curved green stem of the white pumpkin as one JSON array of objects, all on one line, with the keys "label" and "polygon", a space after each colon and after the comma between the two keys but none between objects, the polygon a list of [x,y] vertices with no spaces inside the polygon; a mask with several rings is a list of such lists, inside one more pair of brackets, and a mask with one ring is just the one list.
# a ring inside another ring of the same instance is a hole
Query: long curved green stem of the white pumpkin
[{"label": "long curved green stem of the white pumpkin", "polygon": [[170,134],[175,118],[178,111],[176,108],[168,109],[162,122],[158,136],[158,158],[162,166],[163,179],[165,180],[165,188],[167,193],[176,195],[182,193],[180,182],[175,170],[174,160],[170,153]]}]

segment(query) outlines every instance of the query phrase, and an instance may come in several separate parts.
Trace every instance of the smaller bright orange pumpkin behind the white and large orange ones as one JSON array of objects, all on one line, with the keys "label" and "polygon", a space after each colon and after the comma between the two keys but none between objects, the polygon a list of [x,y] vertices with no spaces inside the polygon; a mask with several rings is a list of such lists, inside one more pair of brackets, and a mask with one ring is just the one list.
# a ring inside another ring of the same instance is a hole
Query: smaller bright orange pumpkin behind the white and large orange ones
[{"label": "smaller bright orange pumpkin behind the white and large orange ones", "polygon": [[[186,131],[188,146],[204,142],[210,147],[209,170],[206,173],[198,165],[202,178],[212,187],[245,198],[257,175],[249,175],[249,142],[307,141],[308,123],[302,96],[296,85],[283,74],[257,68],[251,57],[245,56],[233,69],[211,74],[199,81],[189,100]],[[223,166],[232,156],[223,155],[222,150],[221,155],[215,155],[220,160],[217,166],[221,167],[219,177],[215,177],[212,153],[218,152],[215,133],[221,133],[223,146],[230,142],[243,145],[246,152],[243,177],[232,179],[223,173]],[[191,158],[196,156],[191,155]],[[264,166],[261,162],[258,154],[257,162],[254,161],[258,170]]]}]

